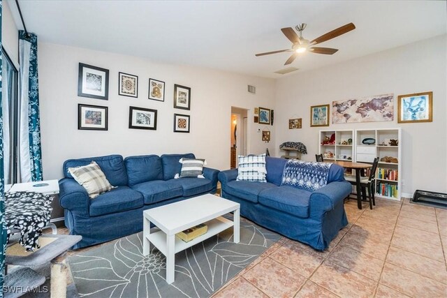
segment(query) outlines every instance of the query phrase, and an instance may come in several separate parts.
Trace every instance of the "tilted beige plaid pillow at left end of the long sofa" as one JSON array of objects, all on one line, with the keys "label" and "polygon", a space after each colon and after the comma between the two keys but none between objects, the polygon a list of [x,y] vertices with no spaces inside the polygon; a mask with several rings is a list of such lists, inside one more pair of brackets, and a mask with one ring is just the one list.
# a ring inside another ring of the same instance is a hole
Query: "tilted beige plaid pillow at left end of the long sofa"
[{"label": "tilted beige plaid pillow at left end of the long sofa", "polygon": [[105,178],[101,167],[94,161],[82,167],[68,167],[68,172],[70,172],[78,184],[87,190],[91,199],[113,188]]}]

